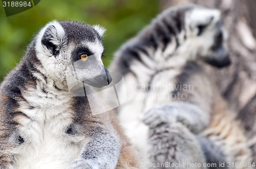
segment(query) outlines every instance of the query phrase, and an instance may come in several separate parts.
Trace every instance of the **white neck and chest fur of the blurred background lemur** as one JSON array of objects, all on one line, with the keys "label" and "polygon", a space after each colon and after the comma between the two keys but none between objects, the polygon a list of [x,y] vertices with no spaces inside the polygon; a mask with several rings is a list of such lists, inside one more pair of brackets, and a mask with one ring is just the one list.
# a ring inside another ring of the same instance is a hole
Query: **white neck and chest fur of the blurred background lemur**
[{"label": "white neck and chest fur of the blurred background lemur", "polygon": [[[168,51],[174,53],[175,48],[172,46],[175,46],[175,44],[169,44],[168,46],[170,47]],[[147,51],[151,53],[150,48],[148,48]],[[144,117],[145,112],[152,106],[163,105],[170,102],[170,100],[158,96],[172,91],[141,91],[137,90],[136,87],[148,84],[153,75],[152,86],[161,86],[161,84],[174,85],[175,77],[180,73],[179,68],[186,63],[186,60],[180,56],[173,56],[170,57],[169,60],[163,61],[164,57],[162,56],[164,54],[167,54],[167,52],[163,53],[161,49],[157,50],[153,60],[150,57],[146,57],[146,55],[141,52],[140,57],[147,66],[135,61],[131,65],[131,70],[136,74],[137,78],[134,77],[132,73],[128,73],[124,76],[125,86],[127,88],[127,100],[119,107],[119,119],[125,130],[125,134],[140,150],[141,156],[143,157],[143,164],[148,164],[150,161],[148,161],[147,146],[148,126],[146,126],[141,119]],[[157,73],[158,71],[172,67],[173,69]],[[179,68],[177,69],[177,67]]]}]

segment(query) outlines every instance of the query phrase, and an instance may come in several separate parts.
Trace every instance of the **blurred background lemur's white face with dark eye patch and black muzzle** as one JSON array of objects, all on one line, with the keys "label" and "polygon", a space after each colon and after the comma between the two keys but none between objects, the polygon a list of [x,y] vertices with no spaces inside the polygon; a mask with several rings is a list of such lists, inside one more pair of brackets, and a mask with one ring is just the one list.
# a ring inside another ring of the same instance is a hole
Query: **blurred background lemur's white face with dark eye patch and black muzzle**
[{"label": "blurred background lemur's white face with dark eye patch and black muzzle", "polygon": [[185,30],[188,44],[197,57],[216,67],[230,64],[226,51],[227,36],[220,20],[220,11],[195,8],[185,14]]}]

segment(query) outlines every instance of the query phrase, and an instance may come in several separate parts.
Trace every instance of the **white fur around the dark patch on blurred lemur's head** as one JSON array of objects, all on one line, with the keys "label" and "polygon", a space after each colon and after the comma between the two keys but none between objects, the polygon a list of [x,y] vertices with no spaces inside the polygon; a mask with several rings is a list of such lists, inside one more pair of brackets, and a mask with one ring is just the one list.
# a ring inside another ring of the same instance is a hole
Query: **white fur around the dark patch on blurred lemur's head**
[{"label": "white fur around the dark patch on blurred lemur's head", "polygon": [[[194,9],[185,14],[185,29],[187,40],[177,50],[178,55],[187,60],[196,60],[199,55],[205,57],[211,52],[209,49],[214,44],[216,34],[215,24],[220,20],[220,11],[216,9]],[[212,18],[212,19],[211,19]],[[211,20],[211,21],[210,21]],[[197,36],[196,26],[208,24],[203,35]],[[227,40],[227,34],[222,27],[223,40]],[[224,43],[225,44],[225,43]],[[225,46],[225,45],[224,45]]]}]

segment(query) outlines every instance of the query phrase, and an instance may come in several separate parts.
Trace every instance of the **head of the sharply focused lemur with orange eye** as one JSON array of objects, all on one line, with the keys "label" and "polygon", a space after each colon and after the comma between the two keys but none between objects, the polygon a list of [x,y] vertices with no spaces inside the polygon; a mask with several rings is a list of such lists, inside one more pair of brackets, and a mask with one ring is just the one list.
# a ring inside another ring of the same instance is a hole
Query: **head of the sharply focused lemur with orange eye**
[{"label": "head of the sharply focused lemur with orange eye", "polygon": [[[75,21],[52,21],[36,36],[36,56],[45,75],[59,88],[67,87],[67,71],[94,87],[109,85],[102,63],[104,29]],[[68,69],[69,67],[73,69]]]}]

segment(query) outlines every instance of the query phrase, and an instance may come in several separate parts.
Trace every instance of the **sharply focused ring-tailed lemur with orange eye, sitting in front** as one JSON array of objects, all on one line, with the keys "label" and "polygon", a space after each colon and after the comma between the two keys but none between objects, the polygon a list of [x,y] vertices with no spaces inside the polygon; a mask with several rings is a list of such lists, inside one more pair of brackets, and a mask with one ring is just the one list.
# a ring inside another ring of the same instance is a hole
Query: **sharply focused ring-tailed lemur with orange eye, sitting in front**
[{"label": "sharply focused ring-tailed lemur with orange eye, sitting in front", "polygon": [[0,88],[0,168],[138,167],[115,116],[93,115],[87,97],[68,90],[68,65],[80,60],[90,66],[78,67],[79,80],[110,83],[103,33],[100,26],[52,21],[36,35]]}]

